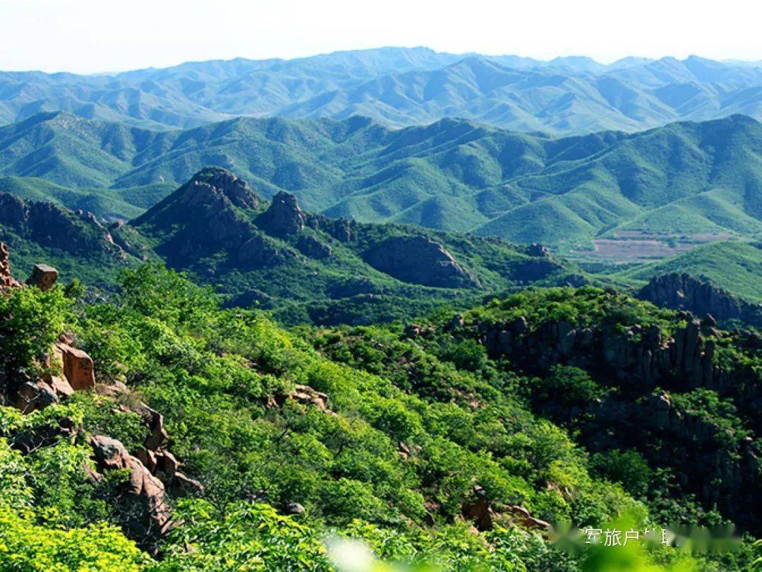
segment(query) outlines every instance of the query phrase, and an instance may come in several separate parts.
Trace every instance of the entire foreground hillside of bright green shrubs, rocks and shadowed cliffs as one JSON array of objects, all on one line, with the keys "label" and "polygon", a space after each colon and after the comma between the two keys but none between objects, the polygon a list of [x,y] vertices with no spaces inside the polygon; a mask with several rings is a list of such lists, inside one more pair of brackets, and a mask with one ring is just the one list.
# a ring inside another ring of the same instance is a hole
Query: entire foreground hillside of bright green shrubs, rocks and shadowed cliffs
[{"label": "entire foreground hillside of bright green shrubs, rocks and shadowed cliffs", "polygon": [[[655,390],[601,351],[645,355],[699,328],[732,387],[696,387],[668,360]],[[0,407],[3,569],[734,572],[757,558],[749,333],[595,288],[407,328],[287,331],[147,265],[108,303],[0,293],[4,397],[27,372],[50,379],[39,356],[64,332],[96,384],[25,415]],[[564,522],[658,533],[554,543]],[[669,523],[735,523],[744,541],[691,554],[661,544]]]}]

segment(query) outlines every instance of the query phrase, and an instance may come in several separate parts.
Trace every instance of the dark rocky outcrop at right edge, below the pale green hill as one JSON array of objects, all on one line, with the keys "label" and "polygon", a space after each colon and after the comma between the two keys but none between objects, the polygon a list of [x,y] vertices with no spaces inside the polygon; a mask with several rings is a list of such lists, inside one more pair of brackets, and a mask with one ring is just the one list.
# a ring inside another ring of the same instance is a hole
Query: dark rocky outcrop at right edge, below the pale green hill
[{"label": "dark rocky outcrop at right edge, below the pale green hill", "polygon": [[749,304],[716,284],[687,274],[655,276],[638,293],[642,300],[657,306],[712,314],[718,320],[741,320],[762,326],[762,308]]}]

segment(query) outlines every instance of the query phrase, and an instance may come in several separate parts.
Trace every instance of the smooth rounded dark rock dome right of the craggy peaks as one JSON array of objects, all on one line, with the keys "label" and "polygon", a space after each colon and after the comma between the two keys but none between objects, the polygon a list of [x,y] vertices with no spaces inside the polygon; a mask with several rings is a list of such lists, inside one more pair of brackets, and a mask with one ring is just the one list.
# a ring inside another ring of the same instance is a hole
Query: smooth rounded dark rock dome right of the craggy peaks
[{"label": "smooth rounded dark rock dome right of the craggy peaks", "polygon": [[393,236],[370,246],[363,258],[379,272],[403,282],[442,288],[479,285],[450,252],[425,236]]}]

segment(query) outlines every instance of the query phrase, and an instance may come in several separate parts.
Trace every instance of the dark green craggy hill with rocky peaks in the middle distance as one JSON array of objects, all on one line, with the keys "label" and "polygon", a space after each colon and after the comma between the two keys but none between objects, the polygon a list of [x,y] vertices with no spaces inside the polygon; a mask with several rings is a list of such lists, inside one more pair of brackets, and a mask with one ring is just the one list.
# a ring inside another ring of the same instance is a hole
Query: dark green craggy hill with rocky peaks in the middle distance
[{"label": "dark green craggy hill with rocky peaks in the middle distance", "polygon": [[584,281],[574,265],[504,239],[330,219],[303,212],[284,193],[264,201],[219,168],[203,169],[127,224],[11,194],[0,193],[0,206],[0,240],[21,275],[47,260],[113,291],[117,275],[138,261],[165,262],[228,304],[270,310],[287,323],[389,321],[525,284]]}]

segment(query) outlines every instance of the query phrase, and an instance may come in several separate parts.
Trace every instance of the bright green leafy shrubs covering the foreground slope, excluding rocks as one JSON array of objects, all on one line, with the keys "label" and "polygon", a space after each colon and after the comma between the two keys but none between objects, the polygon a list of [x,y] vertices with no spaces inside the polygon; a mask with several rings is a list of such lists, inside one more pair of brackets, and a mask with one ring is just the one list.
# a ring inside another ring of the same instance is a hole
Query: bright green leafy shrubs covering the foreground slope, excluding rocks
[{"label": "bright green leafy shrubs covering the foreground slope, excluding rocks", "polygon": [[[594,288],[526,291],[467,313],[455,336],[441,313],[421,325],[429,334],[410,339],[401,326],[289,332],[258,313],[220,309],[209,291],[156,265],[126,272],[117,299],[80,301],[74,315],[59,287],[11,291],[0,300],[2,327],[12,324],[14,339],[34,340],[28,347],[19,342],[18,355],[14,345],[8,370],[30,366],[66,323],[94,358],[98,380],[130,387],[119,398],[121,409],[112,397],[86,392],[26,416],[0,408],[0,519],[8,523],[0,558],[16,562],[11,569],[63,562],[92,569],[331,570],[336,547],[347,548],[341,537],[363,539],[383,561],[447,570],[604,570],[613,558],[632,570],[647,561],[648,570],[680,561],[686,570],[719,571],[740,569],[751,558],[745,545],[699,563],[672,549],[574,555],[511,524],[513,505],[578,526],[616,516],[639,527],[676,514],[684,524],[723,520],[707,516],[689,490],[658,485],[652,471],[669,471],[668,465],[595,445],[584,418],[568,424],[553,413],[549,400],[559,388],[568,403],[617,390],[604,387],[594,368],[530,375],[520,362],[488,355],[471,334],[474,320],[518,315],[533,327],[561,318],[617,331],[632,323],[656,324],[665,333],[679,326],[674,313],[648,304],[610,302]],[[722,350],[728,367],[742,363],[758,374],[759,355],[731,341]],[[328,411],[286,398],[295,384],[325,392]],[[726,397],[694,394],[676,396],[676,407],[733,431],[744,423],[745,413]],[[85,471],[92,462],[88,435],[111,435],[130,450],[142,442],[146,429],[130,413],[135,400],[165,415],[172,451],[206,487],[202,498],[172,499],[178,525],[158,545],[158,561],[114,529],[123,472],[92,482]],[[63,418],[71,419],[72,432],[24,455],[16,450]],[[486,532],[469,532],[461,516],[475,484],[498,515]],[[278,514],[294,502],[303,513]]]}]

